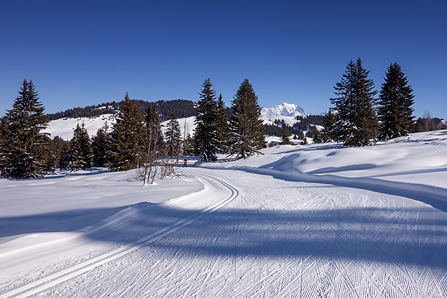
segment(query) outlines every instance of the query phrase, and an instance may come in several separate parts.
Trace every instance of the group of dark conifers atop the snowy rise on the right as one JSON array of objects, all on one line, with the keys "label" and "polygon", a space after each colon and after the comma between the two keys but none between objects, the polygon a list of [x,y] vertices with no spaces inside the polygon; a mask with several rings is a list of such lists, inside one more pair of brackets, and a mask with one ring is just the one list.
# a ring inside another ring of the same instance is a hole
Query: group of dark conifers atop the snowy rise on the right
[{"label": "group of dark conifers atop the snowy rise on the right", "polygon": [[436,129],[429,117],[414,120],[413,89],[399,64],[389,65],[378,98],[368,75],[360,58],[349,61],[341,81],[334,86],[336,97],[329,98],[334,107],[324,116],[323,129],[314,127],[314,142],[369,146],[376,141]]}]

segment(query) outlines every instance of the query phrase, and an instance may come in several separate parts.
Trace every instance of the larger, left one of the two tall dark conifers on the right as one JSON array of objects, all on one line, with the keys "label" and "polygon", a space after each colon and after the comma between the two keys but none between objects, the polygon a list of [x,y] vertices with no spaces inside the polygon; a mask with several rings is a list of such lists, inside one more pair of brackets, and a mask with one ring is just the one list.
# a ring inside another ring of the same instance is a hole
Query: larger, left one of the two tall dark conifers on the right
[{"label": "larger, left one of the two tall dark conifers on the right", "polygon": [[345,146],[369,146],[377,136],[378,120],[375,115],[374,82],[367,78],[369,71],[362,61],[349,61],[342,80],[334,86],[338,98],[330,98],[335,105],[336,140]]}]

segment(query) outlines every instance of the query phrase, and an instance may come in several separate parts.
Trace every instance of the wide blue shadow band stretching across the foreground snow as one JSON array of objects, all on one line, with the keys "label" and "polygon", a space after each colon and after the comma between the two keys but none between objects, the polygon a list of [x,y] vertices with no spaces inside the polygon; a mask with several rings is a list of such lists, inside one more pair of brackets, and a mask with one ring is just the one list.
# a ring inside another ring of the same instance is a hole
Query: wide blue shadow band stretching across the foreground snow
[{"label": "wide blue shadow band stretching across the foreground snow", "polygon": [[2,217],[1,237],[84,228],[83,236],[95,242],[133,244],[194,218],[145,245],[192,255],[323,257],[447,268],[447,215],[429,206],[294,211],[223,207],[197,217],[198,212],[143,202],[116,209]]}]

